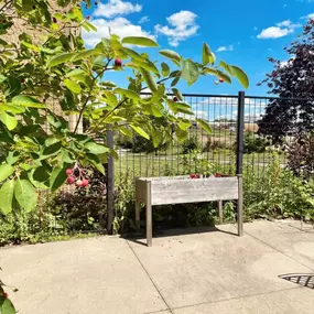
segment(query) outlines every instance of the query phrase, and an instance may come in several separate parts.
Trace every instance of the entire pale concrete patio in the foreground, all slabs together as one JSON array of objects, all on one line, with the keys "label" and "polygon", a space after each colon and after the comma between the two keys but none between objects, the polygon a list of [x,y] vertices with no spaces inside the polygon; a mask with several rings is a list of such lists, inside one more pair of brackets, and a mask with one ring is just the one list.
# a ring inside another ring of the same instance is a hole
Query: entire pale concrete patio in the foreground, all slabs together
[{"label": "entire pale concrete patio in the foreground, all slabs together", "polygon": [[170,230],[152,248],[119,237],[3,248],[1,279],[19,288],[21,314],[312,314],[313,228],[245,231]]}]

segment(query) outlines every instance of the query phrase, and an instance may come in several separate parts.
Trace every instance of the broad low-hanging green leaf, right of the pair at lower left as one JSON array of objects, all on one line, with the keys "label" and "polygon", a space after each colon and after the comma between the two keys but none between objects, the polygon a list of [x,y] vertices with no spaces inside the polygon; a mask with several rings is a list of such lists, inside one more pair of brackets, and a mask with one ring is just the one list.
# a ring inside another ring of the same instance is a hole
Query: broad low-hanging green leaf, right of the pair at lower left
[{"label": "broad low-hanging green leaf, right of the pair at lower left", "polygon": [[14,196],[20,206],[26,212],[31,212],[36,207],[37,193],[28,180],[18,178],[14,185]]}]

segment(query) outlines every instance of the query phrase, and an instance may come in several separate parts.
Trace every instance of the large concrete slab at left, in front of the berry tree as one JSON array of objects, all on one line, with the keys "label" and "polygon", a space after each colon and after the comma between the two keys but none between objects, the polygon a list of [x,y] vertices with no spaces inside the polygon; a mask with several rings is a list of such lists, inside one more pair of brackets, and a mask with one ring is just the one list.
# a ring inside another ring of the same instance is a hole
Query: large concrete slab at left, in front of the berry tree
[{"label": "large concrete slab at left, in front of the berry tree", "polygon": [[139,314],[167,306],[126,240],[99,237],[0,250],[21,314]]}]

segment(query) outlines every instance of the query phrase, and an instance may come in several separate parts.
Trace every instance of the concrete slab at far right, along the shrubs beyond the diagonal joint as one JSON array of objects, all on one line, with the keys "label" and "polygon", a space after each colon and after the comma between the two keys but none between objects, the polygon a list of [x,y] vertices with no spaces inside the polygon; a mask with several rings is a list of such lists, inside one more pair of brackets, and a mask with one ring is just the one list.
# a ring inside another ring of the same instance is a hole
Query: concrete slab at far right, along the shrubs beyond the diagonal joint
[{"label": "concrete slab at far right, along the shrubs beyond the diagonal joint", "polygon": [[314,270],[314,229],[295,220],[255,221],[245,231]]}]

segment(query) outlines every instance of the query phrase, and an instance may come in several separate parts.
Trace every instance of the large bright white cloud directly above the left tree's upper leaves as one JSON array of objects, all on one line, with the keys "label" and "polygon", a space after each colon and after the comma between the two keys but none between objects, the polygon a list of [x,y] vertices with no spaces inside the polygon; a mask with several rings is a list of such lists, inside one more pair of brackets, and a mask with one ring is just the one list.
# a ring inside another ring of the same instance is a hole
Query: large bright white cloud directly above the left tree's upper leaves
[{"label": "large bright white cloud directly above the left tree's upper leaves", "polygon": [[102,37],[109,37],[109,30],[112,34],[120,37],[126,36],[148,36],[154,39],[152,34],[144,31],[141,25],[134,25],[126,18],[116,18],[113,20],[96,19],[91,23],[97,28],[97,32],[86,32],[83,30],[83,39],[87,46],[94,46]]}]

